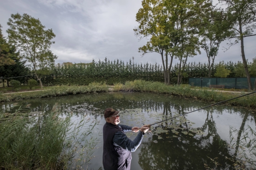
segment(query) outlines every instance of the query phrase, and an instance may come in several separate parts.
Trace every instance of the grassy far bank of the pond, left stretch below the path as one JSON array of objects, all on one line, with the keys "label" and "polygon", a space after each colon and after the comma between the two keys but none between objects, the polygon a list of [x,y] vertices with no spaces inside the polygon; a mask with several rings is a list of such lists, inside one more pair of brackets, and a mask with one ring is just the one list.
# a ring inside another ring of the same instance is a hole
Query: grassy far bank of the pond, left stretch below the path
[{"label": "grassy far bank of the pond, left stretch below the path", "polygon": [[91,92],[105,92],[108,91],[108,86],[101,83],[91,83],[88,86],[51,86],[46,87],[41,91],[15,93],[15,94],[1,94],[0,102],[8,102],[14,100],[30,99],[30,98],[44,98],[64,95],[85,94]]}]

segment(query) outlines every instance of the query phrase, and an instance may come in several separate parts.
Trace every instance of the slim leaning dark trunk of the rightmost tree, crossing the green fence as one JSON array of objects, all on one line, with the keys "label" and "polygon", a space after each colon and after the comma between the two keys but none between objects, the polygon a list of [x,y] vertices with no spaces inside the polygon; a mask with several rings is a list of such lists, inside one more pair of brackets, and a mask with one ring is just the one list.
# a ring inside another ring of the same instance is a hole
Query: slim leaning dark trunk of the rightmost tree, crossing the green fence
[{"label": "slim leaning dark trunk of the rightmost tree, crossing the green fence", "polygon": [[250,74],[248,71],[248,66],[247,66],[247,62],[246,62],[245,54],[244,54],[244,38],[243,38],[243,32],[242,32],[242,22],[241,22],[241,20],[239,20],[238,22],[239,22],[239,32],[240,32],[240,36],[241,36],[241,53],[242,53],[242,59],[243,59],[243,64],[244,64],[244,70],[245,70],[247,82],[248,82],[248,89],[253,90],[251,77],[250,77]]}]

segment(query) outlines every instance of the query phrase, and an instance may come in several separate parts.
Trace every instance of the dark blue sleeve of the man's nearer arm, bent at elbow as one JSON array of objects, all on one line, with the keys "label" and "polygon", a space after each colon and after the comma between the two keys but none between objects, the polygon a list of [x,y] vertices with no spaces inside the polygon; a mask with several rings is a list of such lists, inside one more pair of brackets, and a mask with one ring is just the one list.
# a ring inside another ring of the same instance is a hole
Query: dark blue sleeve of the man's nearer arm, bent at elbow
[{"label": "dark blue sleeve of the man's nearer arm, bent at elbow", "polygon": [[140,143],[143,139],[144,134],[145,133],[139,131],[139,134],[132,141],[126,136],[126,134],[122,132],[116,132],[113,137],[113,144],[127,151],[134,152],[140,146]]}]

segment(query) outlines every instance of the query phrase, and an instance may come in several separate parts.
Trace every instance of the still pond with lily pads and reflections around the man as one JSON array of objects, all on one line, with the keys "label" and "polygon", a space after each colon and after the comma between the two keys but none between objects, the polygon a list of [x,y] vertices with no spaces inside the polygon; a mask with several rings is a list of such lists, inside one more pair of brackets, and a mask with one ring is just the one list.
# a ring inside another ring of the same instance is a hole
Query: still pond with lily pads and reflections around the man
[{"label": "still pond with lily pads and reflections around the man", "polygon": [[[88,169],[102,166],[105,108],[122,111],[120,124],[141,127],[213,104],[142,92],[70,95],[24,100],[18,104],[22,102],[30,103],[32,113],[47,113],[58,103],[62,115],[73,113],[73,121],[81,115],[97,121],[95,134],[100,142],[94,149]],[[13,103],[2,104],[2,108]],[[131,169],[232,169],[235,158],[246,155],[246,160],[255,160],[255,155],[250,156],[255,153],[255,144],[246,145],[253,140],[255,130],[255,110],[230,105],[208,107],[153,125],[151,133],[146,133],[139,148],[132,152]],[[126,134],[132,140],[137,135],[133,132]],[[255,163],[245,164],[255,166]]]}]

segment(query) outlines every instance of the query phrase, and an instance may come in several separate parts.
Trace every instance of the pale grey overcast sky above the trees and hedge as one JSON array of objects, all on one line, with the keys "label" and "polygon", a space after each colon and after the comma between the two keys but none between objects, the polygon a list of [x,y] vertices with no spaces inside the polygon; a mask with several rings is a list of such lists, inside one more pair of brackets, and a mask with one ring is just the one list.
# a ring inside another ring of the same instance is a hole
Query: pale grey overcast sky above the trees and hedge
[{"label": "pale grey overcast sky above the trees and hedge", "polygon": [[[51,50],[58,56],[56,63],[89,63],[107,57],[134,63],[159,63],[158,53],[148,53],[141,57],[138,48],[146,40],[138,41],[133,28],[138,26],[136,13],[141,8],[141,0],[0,0],[0,24],[4,36],[11,14],[19,13],[39,18],[48,29],[52,28],[56,37]],[[219,61],[242,61],[240,43],[224,53],[220,46],[215,59]],[[249,61],[256,57],[256,36],[244,39],[245,57]],[[188,62],[207,62],[202,54],[188,59]],[[177,63],[178,60],[174,60]]]}]

